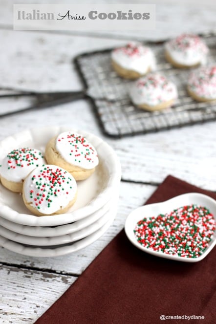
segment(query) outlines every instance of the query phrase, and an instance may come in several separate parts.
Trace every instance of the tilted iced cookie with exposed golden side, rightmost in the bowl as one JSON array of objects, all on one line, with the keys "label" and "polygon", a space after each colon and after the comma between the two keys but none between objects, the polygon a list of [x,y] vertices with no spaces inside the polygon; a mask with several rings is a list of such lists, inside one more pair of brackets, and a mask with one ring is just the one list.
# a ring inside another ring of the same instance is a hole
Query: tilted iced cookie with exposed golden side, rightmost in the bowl
[{"label": "tilted iced cookie with exposed golden side, rightmost in the bowl", "polygon": [[91,143],[81,134],[72,131],[52,138],[46,145],[45,157],[49,164],[64,168],[76,180],[88,178],[99,163],[97,152]]}]

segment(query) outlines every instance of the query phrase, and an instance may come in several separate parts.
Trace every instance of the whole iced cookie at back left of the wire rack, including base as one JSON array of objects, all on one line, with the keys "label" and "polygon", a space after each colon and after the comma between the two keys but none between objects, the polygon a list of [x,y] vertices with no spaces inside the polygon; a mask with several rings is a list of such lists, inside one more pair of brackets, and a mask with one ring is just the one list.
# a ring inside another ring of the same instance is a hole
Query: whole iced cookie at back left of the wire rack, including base
[{"label": "whole iced cookie at back left of the wire rack, including base", "polygon": [[116,73],[126,79],[140,78],[155,70],[156,66],[151,49],[133,42],[115,48],[111,53],[111,62]]}]

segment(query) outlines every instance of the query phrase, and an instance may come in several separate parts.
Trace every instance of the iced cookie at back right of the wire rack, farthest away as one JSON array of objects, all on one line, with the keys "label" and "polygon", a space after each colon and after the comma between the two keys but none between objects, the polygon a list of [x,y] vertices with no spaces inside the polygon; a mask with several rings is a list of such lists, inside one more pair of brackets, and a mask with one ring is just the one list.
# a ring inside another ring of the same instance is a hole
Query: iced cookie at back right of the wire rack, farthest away
[{"label": "iced cookie at back right of the wire rack, farthest away", "polygon": [[196,35],[183,34],[165,44],[165,57],[175,67],[193,67],[206,63],[208,47]]}]

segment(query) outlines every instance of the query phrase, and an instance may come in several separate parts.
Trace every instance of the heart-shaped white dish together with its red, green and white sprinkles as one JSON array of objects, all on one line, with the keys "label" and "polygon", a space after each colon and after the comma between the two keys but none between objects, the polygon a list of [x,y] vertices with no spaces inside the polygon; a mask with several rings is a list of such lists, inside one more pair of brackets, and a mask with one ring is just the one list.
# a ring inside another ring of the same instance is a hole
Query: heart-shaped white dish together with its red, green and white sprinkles
[{"label": "heart-shaped white dish together with its red, green and white sprinkles", "polygon": [[137,208],[125,231],[139,249],[185,262],[204,259],[216,244],[216,201],[204,194],[182,194]]}]

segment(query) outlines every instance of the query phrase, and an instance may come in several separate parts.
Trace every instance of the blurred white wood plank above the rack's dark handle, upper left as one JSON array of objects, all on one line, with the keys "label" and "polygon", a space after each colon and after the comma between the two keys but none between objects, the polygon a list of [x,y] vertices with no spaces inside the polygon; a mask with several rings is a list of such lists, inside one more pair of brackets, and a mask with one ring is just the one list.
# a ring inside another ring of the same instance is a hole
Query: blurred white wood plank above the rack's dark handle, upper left
[{"label": "blurred white wood plank above the rack's dark handle, upper left", "polygon": [[7,48],[4,54],[1,53],[0,86],[35,91],[82,88],[72,65],[73,57],[81,52],[125,43],[102,38],[13,30],[0,30],[0,39]]}]

